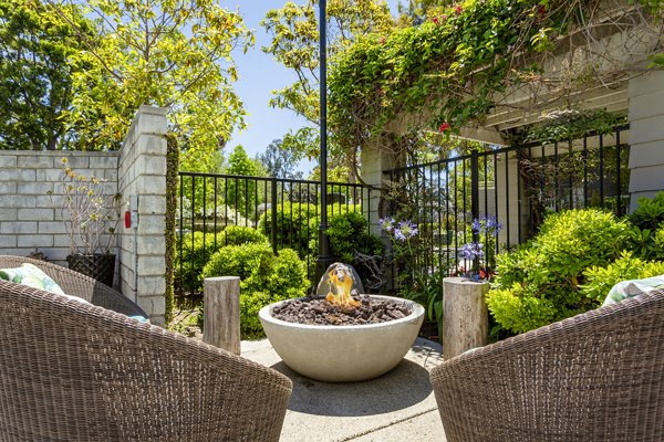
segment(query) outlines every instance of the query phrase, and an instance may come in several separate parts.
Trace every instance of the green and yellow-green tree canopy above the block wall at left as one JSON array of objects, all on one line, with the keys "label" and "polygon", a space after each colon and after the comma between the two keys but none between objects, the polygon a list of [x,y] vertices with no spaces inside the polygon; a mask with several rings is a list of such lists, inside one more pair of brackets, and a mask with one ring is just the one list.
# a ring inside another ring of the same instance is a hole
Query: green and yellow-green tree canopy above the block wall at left
[{"label": "green and yellow-green tree canopy above the block wall at left", "polygon": [[169,109],[183,162],[243,127],[231,51],[241,17],[214,0],[0,0],[0,145],[115,149],[141,105]]}]

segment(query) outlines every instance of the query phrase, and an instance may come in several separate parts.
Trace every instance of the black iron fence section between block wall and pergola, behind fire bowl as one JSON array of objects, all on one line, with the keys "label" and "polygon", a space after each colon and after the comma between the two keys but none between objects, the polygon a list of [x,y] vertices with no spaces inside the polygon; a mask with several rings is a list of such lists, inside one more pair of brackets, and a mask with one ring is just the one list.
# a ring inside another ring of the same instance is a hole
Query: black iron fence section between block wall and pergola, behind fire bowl
[{"label": "black iron fence section between block wall and pergola, behind fire bowl", "polygon": [[[321,183],[310,180],[179,173],[176,297],[200,295],[200,273],[219,248],[250,236],[247,228],[264,234],[274,252],[290,248],[307,261],[317,256],[311,240],[319,235]],[[328,213],[362,212],[369,217],[371,190],[356,183],[328,183]],[[311,275],[310,275],[311,276]]]}]

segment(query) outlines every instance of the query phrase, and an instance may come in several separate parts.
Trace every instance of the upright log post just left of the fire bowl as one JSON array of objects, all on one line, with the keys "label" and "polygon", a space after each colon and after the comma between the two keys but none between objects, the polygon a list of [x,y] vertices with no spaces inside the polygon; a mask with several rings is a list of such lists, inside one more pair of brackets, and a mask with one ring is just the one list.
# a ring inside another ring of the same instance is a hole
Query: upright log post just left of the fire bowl
[{"label": "upright log post just left of the fire bowl", "polygon": [[240,278],[206,277],[203,282],[203,341],[240,354]]}]

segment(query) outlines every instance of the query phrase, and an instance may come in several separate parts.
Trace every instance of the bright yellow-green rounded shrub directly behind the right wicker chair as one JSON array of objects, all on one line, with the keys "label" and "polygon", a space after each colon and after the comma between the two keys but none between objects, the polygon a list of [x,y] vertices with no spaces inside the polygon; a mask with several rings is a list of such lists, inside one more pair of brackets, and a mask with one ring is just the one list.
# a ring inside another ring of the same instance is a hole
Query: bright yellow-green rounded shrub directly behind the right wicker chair
[{"label": "bright yellow-green rounded shrub directly behind the right wicker chair", "polygon": [[583,272],[612,263],[627,235],[626,221],[596,209],[549,215],[533,240],[497,256],[487,295],[496,322],[523,333],[596,307],[579,290]]}]

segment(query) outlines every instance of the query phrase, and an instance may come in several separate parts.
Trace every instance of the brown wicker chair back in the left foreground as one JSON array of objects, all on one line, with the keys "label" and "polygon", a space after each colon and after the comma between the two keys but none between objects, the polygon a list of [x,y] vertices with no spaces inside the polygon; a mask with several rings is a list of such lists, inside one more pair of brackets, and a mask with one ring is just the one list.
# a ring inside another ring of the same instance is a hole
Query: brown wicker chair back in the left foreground
[{"label": "brown wicker chair back in the left foreground", "polygon": [[7,281],[0,316],[0,441],[279,440],[292,383],[272,369]]}]

